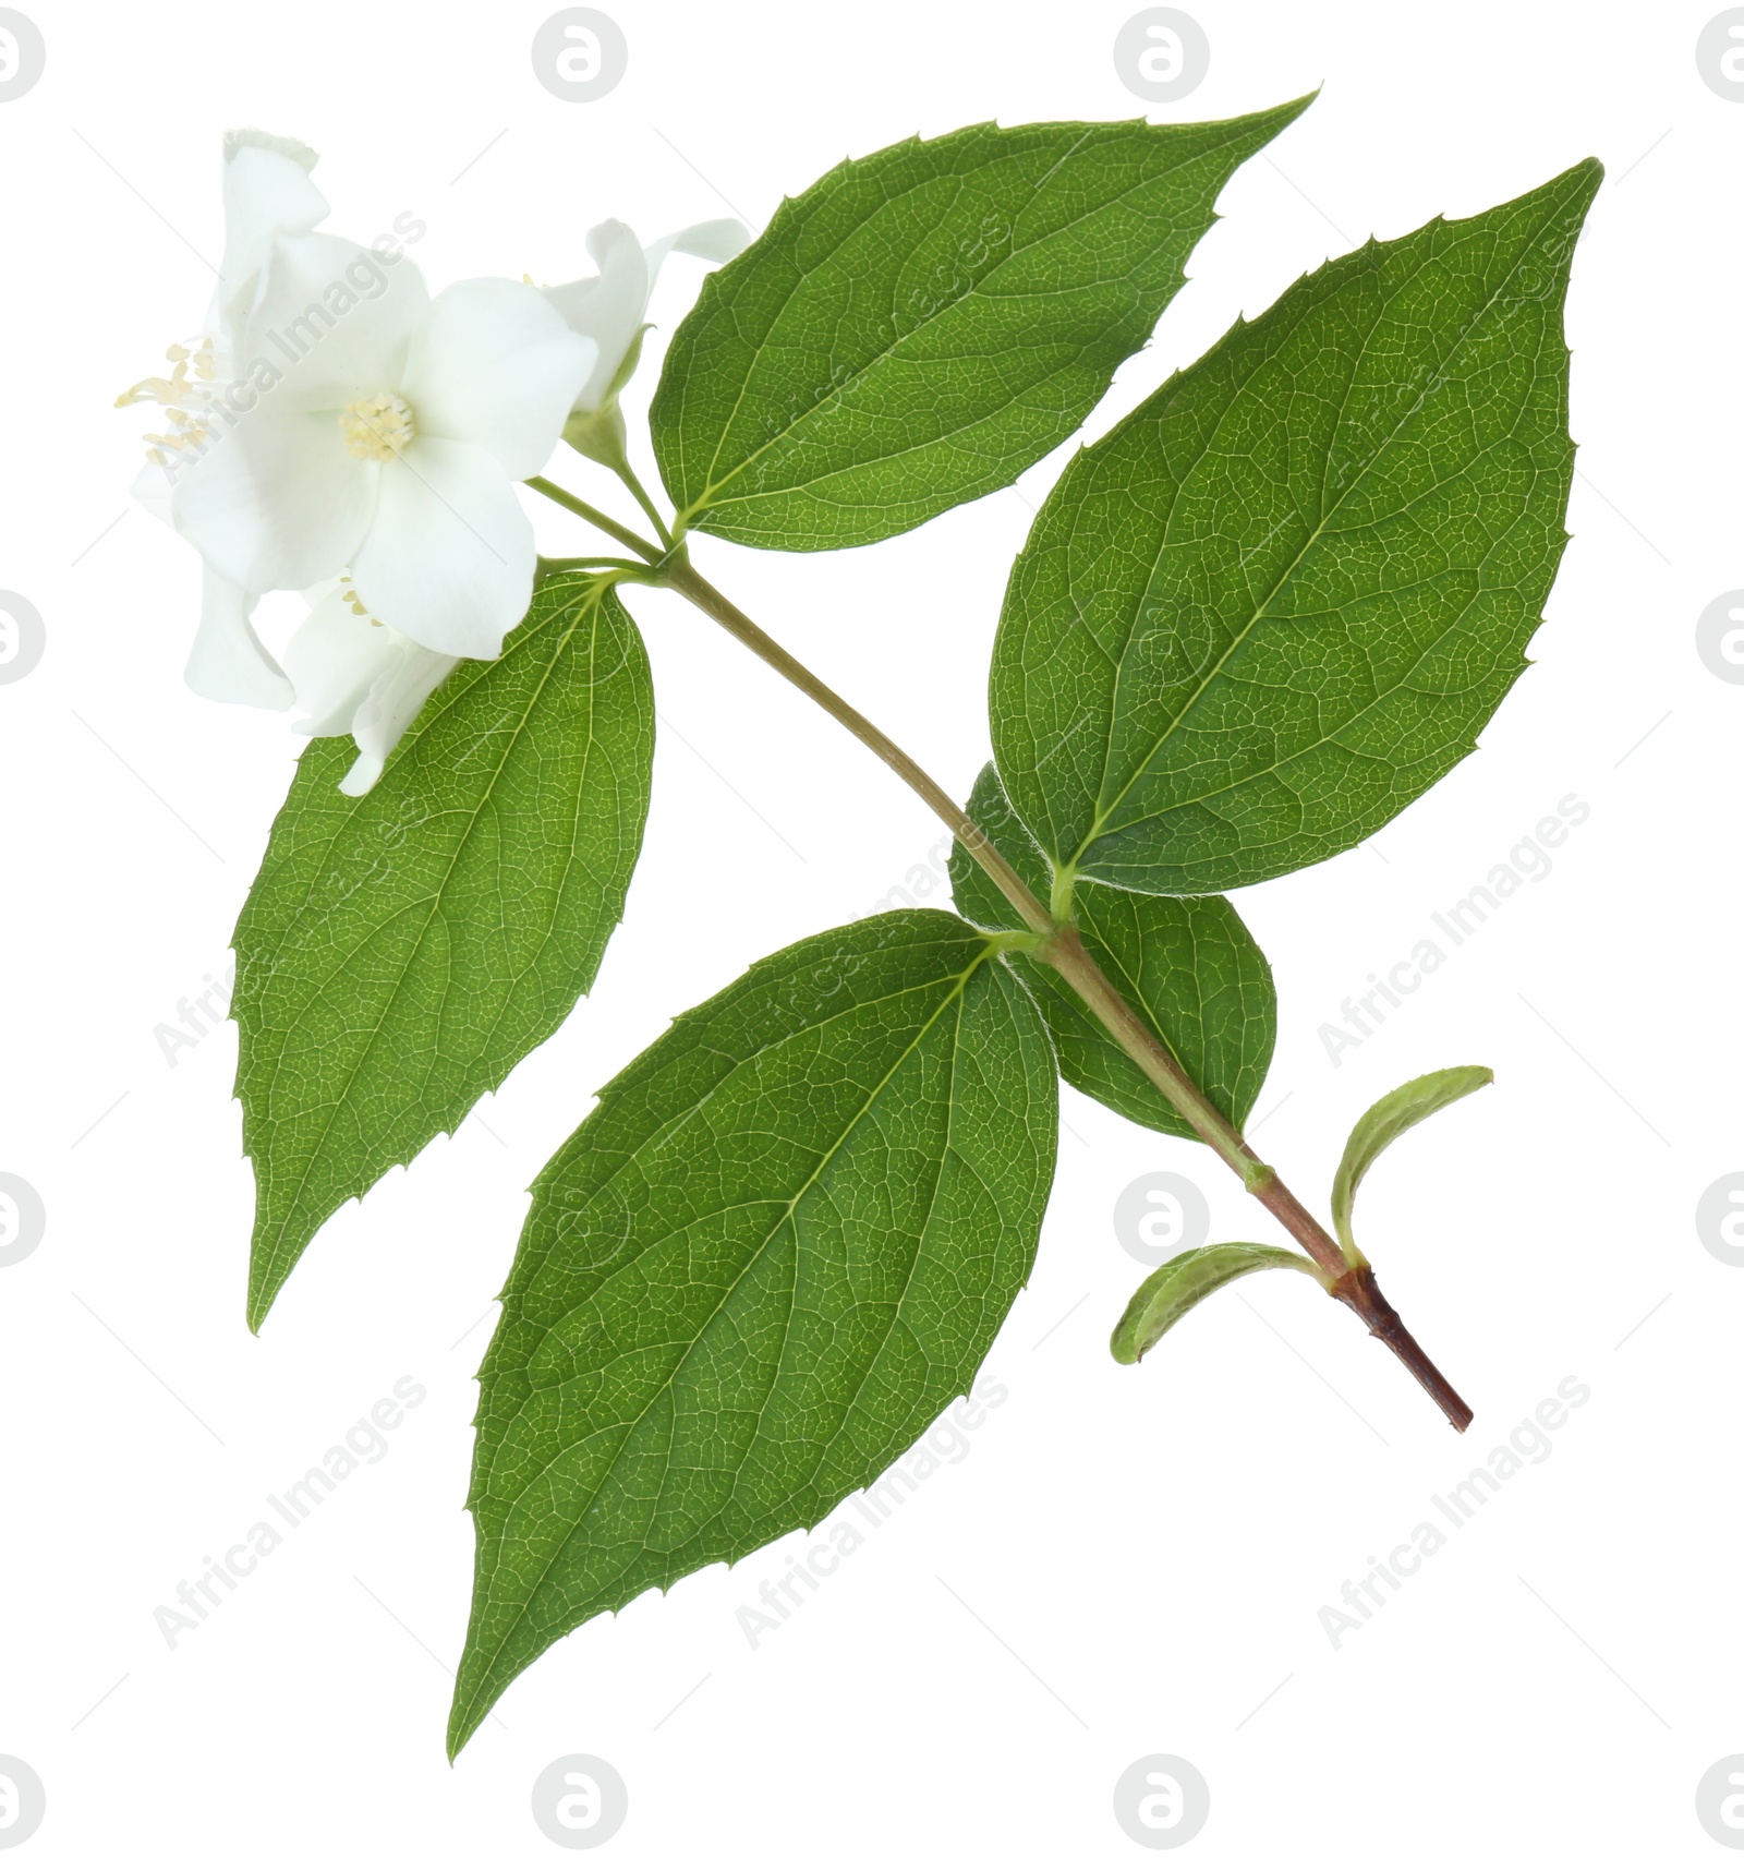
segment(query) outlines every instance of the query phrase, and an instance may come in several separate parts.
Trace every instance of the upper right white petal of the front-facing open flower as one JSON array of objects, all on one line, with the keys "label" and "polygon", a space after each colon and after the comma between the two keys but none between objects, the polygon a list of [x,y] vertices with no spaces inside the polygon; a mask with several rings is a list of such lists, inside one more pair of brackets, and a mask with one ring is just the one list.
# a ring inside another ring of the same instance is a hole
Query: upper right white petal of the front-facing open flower
[{"label": "upper right white petal of the front-facing open flower", "polygon": [[596,355],[529,284],[475,277],[418,323],[401,392],[420,433],[483,446],[511,478],[531,478]]}]

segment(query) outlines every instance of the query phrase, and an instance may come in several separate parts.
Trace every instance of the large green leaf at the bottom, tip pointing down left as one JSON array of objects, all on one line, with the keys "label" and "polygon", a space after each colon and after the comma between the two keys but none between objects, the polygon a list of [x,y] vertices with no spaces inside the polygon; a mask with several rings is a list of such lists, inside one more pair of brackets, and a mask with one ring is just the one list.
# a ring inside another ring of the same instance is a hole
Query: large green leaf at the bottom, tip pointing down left
[{"label": "large green leaf at the bottom, tip pointing down left", "polygon": [[812,1527],[968,1390],[1055,1096],[1029,994],[940,910],[760,961],[600,1093],[479,1375],[451,1752],[565,1633]]}]

